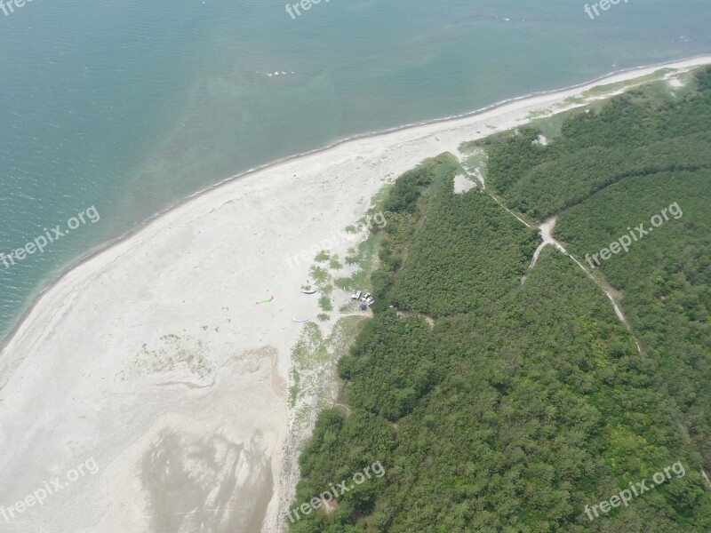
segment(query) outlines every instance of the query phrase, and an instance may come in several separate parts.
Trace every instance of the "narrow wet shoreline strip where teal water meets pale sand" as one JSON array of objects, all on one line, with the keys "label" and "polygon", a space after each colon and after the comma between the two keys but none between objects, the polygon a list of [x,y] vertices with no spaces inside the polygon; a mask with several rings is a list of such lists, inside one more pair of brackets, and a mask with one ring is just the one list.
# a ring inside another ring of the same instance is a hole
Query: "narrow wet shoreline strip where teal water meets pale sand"
[{"label": "narrow wet shoreline strip where teal water meets pale sand", "polygon": [[[333,148],[340,147],[344,144],[347,144],[349,142],[354,142],[358,140],[363,140],[363,139],[372,139],[376,137],[381,137],[381,136],[386,136],[392,133],[398,133],[401,131],[408,131],[412,130],[415,128],[422,128],[422,127],[427,127],[427,126],[432,126],[432,125],[437,125],[437,124],[442,124],[442,123],[453,123],[459,120],[465,120],[467,118],[472,118],[477,115],[483,115],[484,113],[488,113],[491,111],[495,111],[501,107],[505,107],[510,104],[514,104],[516,102],[523,102],[527,99],[536,99],[540,97],[548,97],[548,96],[555,96],[557,94],[566,92],[566,91],[576,91],[584,87],[588,87],[592,84],[598,84],[600,82],[603,82],[605,80],[610,80],[611,78],[615,76],[626,76],[626,75],[631,75],[634,74],[635,72],[640,72],[640,71],[646,71],[650,69],[657,70],[659,68],[675,68],[675,66],[681,66],[683,64],[696,61],[696,60],[703,60],[703,62],[699,62],[699,66],[702,66],[704,64],[711,64],[711,54],[701,54],[701,55],[696,55],[692,56],[690,58],[684,58],[682,60],[671,60],[671,61],[666,61],[663,63],[658,63],[658,64],[653,64],[653,65],[643,65],[640,67],[633,67],[633,68],[626,68],[626,69],[620,69],[620,70],[615,70],[611,71],[608,74],[604,74],[603,76],[598,76],[593,78],[592,80],[588,80],[585,82],[581,82],[579,84],[573,84],[569,85],[560,89],[555,89],[555,90],[550,90],[550,91],[535,91],[535,92],[530,92],[527,94],[524,94],[522,96],[517,96],[514,98],[509,98],[509,99],[504,99],[504,100],[499,100],[498,102],[491,104],[490,106],[485,106],[485,107],[480,107],[478,109],[475,109],[474,111],[468,111],[466,113],[461,113],[459,115],[450,115],[450,116],[445,116],[443,118],[435,118],[432,120],[428,121],[422,121],[419,123],[407,123],[403,124],[401,126],[395,126],[394,128],[388,128],[386,130],[380,130],[380,131],[369,131],[365,133],[359,133],[356,135],[352,135],[350,137],[346,137],[344,139],[338,139],[334,142],[332,142],[329,145],[326,145],[324,147],[319,147],[319,148],[314,148],[313,150],[308,150],[306,152],[300,152],[299,154],[294,154],[294,155],[287,155],[285,157],[276,159],[274,161],[271,161],[269,163],[264,163],[256,167],[252,167],[251,169],[248,169],[246,171],[238,172],[228,178],[221,179],[220,181],[212,184],[209,187],[204,187],[203,189],[200,189],[196,191],[195,193],[188,195],[187,197],[183,198],[177,203],[173,203],[172,205],[166,207],[162,211],[157,211],[153,215],[149,216],[147,219],[144,219],[143,221],[140,222],[140,224],[136,227],[132,227],[128,231],[126,231],[124,234],[119,235],[113,239],[110,239],[106,243],[100,244],[98,247],[94,248],[91,251],[86,252],[83,256],[79,257],[68,265],[68,267],[65,267],[60,274],[56,275],[54,278],[46,282],[42,290],[39,290],[39,292],[36,293],[35,297],[32,298],[32,301],[28,304],[28,306],[20,313],[18,316],[17,320],[15,321],[14,325],[10,330],[7,331],[7,333],[4,335],[2,340],[0,340],[0,362],[2,362],[3,354],[5,348],[12,342],[12,338],[17,334],[18,330],[20,330],[20,327],[22,326],[23,322],[25,322],[28,319],[28,316],[32,313],[32,311],[35,309],[39,301],[44,297],[44,294],[52,290],[52,288],[57,285],[62,279],[64,279],[68,274],[70,274],[73,270],[75,270],[78,267],[81,267],[88,261],[91,261],[92,259],[96,258],[99,256],[101,253],[104,253],[106,251],[111,250],[114,246],[116,246],[119,243],[124,243],[128,239],[132,238],[134,235],[139,235],[141,231],[143,231],[146,227],[148,227],[151,223],[156,221],[157,219],[160,219],[164,217],[165,215],[171,213],[172,211],[175,211],[179,209],[180,207],[196,200],[197,198],[206,195],[210,193],[213,190],[216,190],[220,187],[224,187],[233,181],[236,181],[237,179],[242,179],[247,176],[250,176],[252,174],[255,174],[260,171],[266,171],[268,169],[271,169],[273,167],[276,167],[280,164],[284,163],[290,163],[296,160],[299,160],[304,157],[308,157],[309,155],[316,155],[316,154],[322,154],[324,152],[327,152],[329,150],[332,150]],[[676,67],[676,68],[681,68],[681,67]],[[650,73],[651,74],[651,73]],[[644,76],[644,75],[643,75]],[[630,78],[634,79],[634,78]],[[620,80],[622,81],[622,80]],[[4,386],[4,383],[0,382],[0,390],[2,390]]]}]

